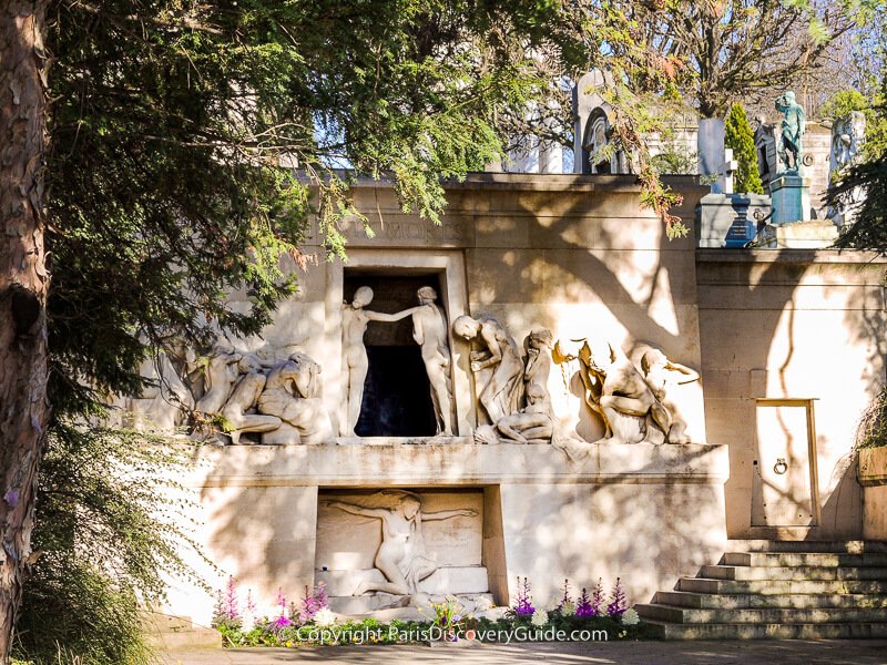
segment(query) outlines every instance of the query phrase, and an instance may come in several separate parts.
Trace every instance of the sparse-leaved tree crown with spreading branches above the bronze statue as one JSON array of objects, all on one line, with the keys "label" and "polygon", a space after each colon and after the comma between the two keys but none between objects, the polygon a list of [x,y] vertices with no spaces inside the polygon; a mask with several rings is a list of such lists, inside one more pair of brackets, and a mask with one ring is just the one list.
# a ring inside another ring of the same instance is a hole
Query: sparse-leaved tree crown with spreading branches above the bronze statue
[{"label": "sparse-leaved tree crown with spreading branches above the bronze statue", "polygon": [[633,76],[638,90],[681,95],[703,117],[724,117],[731,103],[755,101],[814,71],[854,20],[847,3],[661,0],[615,3],[624,28],[654,49],[676,78]]}]

